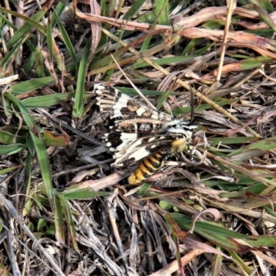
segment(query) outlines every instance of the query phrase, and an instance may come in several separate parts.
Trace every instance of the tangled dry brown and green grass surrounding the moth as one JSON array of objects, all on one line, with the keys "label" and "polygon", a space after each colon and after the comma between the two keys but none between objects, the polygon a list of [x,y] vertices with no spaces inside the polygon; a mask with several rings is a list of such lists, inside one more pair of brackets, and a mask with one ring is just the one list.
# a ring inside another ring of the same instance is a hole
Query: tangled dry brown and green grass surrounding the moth
[{"label": "tangled dry brown and green grass surrounding the moth", "polygon": [[[274,275],[275,1],[192,2],[0,8],[1,275]],[[192,88],[199,166],[110,169],[92,86],[126,77],[177,117]]]}]

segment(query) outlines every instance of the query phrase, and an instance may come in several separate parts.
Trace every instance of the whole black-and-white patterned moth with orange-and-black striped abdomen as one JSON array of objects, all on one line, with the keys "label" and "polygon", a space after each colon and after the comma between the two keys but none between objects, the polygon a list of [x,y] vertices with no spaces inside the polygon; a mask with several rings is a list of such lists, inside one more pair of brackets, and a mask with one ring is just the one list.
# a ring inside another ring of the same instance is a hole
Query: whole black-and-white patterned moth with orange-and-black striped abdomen
[{"label": "whole black-and-white patterned moth with orange-and-black striped abdomen", "polygon": [[95,84],[97,105],[114,125],[105,136],[106,146],[115,158],[111,166],[139,167],[128,177],[137,184],[160,170],[171,155],[186,151],[193,155],[191,145],[197,125],[146,106],[119,90],[103,83]]}]

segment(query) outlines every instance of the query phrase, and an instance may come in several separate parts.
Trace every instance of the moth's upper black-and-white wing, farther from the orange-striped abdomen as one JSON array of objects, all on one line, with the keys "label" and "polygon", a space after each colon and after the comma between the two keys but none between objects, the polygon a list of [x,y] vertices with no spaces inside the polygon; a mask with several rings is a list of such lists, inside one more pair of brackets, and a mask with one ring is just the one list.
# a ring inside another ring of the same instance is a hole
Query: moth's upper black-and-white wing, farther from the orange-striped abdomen
[{"label": "moth's upper black-and-white wing, farther from the orange-striped abdomen", "polygon": [[164,133],[164,121],[173,120],[170,115],[149,108],[110,86],[99,83],[94,89],[101,114],[113,119],[110,132],[106,134],[110,152],[115,152],[120,145],[128,145],[133,139]]}]

